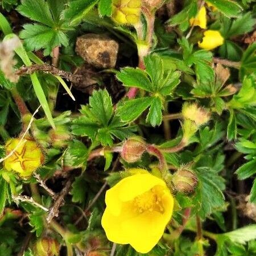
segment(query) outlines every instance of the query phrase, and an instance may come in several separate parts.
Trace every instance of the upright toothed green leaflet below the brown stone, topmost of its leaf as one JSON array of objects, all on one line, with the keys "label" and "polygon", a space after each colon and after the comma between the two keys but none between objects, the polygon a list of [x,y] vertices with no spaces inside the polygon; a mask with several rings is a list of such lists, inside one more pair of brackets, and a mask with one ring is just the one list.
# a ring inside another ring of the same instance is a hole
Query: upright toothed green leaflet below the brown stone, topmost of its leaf
[{"label": "upright toothed green leaflet below the brown stone, topmost of its leaf", "polygon": [[112,100],[106,89],[94,90],[89,98],[91,106],[90,112],[102,123],[107,126],[113,114]]}]

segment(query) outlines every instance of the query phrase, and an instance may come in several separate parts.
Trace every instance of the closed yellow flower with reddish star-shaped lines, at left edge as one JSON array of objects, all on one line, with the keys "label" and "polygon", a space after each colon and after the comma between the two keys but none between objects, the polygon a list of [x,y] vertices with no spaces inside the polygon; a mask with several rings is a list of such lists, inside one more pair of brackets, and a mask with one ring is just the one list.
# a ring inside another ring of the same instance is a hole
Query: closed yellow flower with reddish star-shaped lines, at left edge
[{"label": "closed yellow flower with reddish star-shaped lines, at left edge", "polygon": [[43,164],[44,155],[38,144],[31,138],[25,137],[26,142],[20,143],[20,139],[14,138],[6,142],[6,155],[15,151],[9,158],[4,161],[4,167],[7,171],[14,170],[19,173],[20,177],[29,177],[31,174]]}]

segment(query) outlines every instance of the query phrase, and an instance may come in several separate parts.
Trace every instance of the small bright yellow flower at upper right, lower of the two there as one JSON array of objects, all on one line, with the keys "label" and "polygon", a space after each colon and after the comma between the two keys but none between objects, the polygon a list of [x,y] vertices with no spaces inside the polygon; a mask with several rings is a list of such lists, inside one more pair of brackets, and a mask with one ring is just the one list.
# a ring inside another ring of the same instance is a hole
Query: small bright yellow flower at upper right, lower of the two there
[{"label": "small bright yellow flower at upper right, lower of the two there", "polygon": [[203,41],[198,42],[198,46],[203,49],[211,50],[224,43],[224,38],[217,30],[207,30],[204,32]]}]

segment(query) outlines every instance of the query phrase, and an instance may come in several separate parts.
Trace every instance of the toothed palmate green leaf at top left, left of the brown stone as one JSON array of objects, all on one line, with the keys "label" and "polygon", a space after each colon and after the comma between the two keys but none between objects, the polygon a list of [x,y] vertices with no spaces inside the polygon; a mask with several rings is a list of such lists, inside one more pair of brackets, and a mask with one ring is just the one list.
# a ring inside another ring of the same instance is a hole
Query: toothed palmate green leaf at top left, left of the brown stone
[{"label": "toothed palmate green leaf at top left, left of the brown stone", "polygon": [[[20,32],[29,51],[46,49],[44,55],[49,55],[56,46],[68,46],[68,38],[64,30],[67,26],[61,20],[65,0],[23,0],[18,7],[20,14],[40,22],[41,24],[25,24]],[[38,8],[34,10],[34,8]],[[50,9],[51,8],[51,9]]]}]

